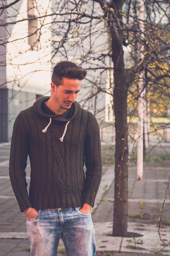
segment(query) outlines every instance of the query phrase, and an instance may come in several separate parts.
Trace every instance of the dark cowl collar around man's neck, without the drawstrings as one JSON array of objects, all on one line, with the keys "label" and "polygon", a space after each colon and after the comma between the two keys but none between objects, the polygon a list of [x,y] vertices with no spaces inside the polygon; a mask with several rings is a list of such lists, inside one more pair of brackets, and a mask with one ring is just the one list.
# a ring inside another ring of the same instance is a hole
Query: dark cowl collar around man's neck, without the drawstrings
[{"label": "dark cowl collar around man's neck, without the drawstrings", "polygon": [[62,114],[47,115],[42,112],[42,104],[43,104],[43,102],[48,101],[48,99],[50,99],[50,97],[45,96],[45,97],[38,99],[36,102],[34,102],[33,108],[39,116],[49,118],[49,119],[51,118],[52,120],[57,120],[57,121],[61,121],[61,122],[68,122],[75,118],[75,116],[77,115],[77,112],[80,111],[80,108],[81,108],[81,105],[77,101],[73,102],[71,105],[71,108],[73,108],[73,111],[71,111],[72,115],[69,119],[66,119],[64,116],[62,116]]}]

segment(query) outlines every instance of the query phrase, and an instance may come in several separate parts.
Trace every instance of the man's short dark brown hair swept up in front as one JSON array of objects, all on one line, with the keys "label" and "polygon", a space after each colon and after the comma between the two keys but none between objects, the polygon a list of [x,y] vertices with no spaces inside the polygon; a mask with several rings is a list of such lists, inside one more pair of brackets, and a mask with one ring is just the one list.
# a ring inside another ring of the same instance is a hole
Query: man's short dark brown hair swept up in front
[{"label": "man's short dark brown hair swept up in front", "polygon": [[78,79],[82,80],[85,78],[87,70],[82,67],[78,67],[71,61],[60,61],[53,69],[52,82],[58,87],[62,84],[62,79]]}]

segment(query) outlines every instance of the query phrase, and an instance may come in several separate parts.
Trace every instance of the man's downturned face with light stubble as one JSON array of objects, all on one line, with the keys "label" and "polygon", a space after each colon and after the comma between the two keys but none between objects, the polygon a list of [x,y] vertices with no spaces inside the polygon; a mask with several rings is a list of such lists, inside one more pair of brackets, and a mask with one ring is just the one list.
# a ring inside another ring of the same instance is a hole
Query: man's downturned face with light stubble
[{"label": "man's downturned face with light stubble", "polygon": [[63,78],[62,85],[59,85],[59,87],[56,87],[54,83],[51,83],[51,90],[55,102],[59,105],[60,109],[68,110],[71,108],[72,103],[75,102],[78,96],[81,83],[81,80],[68,78]]}]

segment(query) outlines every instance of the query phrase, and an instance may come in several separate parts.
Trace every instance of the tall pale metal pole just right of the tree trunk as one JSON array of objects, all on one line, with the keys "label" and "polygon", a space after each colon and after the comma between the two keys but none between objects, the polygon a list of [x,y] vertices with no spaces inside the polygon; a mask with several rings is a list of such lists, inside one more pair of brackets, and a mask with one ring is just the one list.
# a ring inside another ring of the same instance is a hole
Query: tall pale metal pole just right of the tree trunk
[{"label": "tall pale metal pole just right of the tree trunk", "polygon": [[[144,38],[144,1],[140,0],[140,21],[139,21],[139,28],[141,31],[141,42],[143,42]],[[144,47],[142,46],[140,49],[139,53],[139,58],[142,61],[144,58],[143,55],[143,49]],[[138,134],[139,134],[139,139],[138,139],[138,149],[137,149],[137,180],[142,180],[143,179],[143,126],[144,126],[144,100],[143,100],[143,77],[144,77],[144,72],[142,71],[139,74],[139,102],[138,102]],[[142,92],[142,93],[141,93]]]}]

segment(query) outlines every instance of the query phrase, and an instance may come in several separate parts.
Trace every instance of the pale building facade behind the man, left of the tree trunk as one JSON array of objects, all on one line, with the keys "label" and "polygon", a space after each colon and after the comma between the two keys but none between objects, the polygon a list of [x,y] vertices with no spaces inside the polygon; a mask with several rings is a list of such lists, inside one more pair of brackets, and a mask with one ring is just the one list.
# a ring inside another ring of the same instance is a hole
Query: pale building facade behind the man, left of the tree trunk
[{"label": "pale building facade behind the man, left of the tree trunk", "polygon": [[[57,9],[56,3],[59,3]],[[108,50],[106,33],[92,35],[89,42],[88,37],[82,37],[84,31],[88,31],[88,26],[83,24],[76,36],[70,32],[63,40],[67,15],[54,15],[59,12],[59,8],[63,12],[62,1],[21,0],[13,7],[3,12],[7,26],[0,29],[0,142],[11,141],[14,120],[20,111],[33,105],[41,96],[51,95],[51,74],[58,61],[68,60],[87,69],[93,68],[99,61],[92,57],[92,61],[87,61],[88,57],[84,61],[82,55],[88,56],[91,45],[91,54],[94,55]],[[92,6],[87,4],[85,7],[90,12]],[[98,5],[93,8],[99,10]],[[75,17],[75,14],[68,15],[70,19]],[[91,27],[99,31],[101,24],[95,24],[95,20],[93,22]],[[110,58],[107,61],[109,67]],[[102,75],[101,70],[88,70],[77,98],[82,108],[94,113],[100,122],[113,121],[112,96],[98,93],[99,88],[110,90],[112,80],[107,70]]]}]

